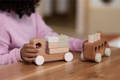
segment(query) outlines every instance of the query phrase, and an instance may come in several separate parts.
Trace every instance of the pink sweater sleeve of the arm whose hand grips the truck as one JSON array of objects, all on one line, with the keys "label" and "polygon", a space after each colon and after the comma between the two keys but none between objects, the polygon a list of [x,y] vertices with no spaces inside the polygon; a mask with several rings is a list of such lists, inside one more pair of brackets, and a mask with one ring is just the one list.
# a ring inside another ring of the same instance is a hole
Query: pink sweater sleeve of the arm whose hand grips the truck
[{"label": "pink sweater sleeve of the arm whose hand grips the truck", "polygon": [[11,64],[21,60],[20,49],[9,50],[10,34],[4,25],[0,25],[0,65]]}]

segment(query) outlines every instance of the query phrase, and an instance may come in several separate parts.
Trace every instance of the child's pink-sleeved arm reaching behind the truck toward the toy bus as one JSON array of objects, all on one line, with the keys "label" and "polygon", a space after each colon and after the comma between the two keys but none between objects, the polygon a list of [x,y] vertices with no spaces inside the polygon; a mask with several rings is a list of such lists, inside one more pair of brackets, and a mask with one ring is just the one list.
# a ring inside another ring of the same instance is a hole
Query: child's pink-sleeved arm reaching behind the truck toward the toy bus
[{"label": "child's pink-sleeved arm reaching behind the truck toward the toy bus", "polygon": [[[49,35],[58,35],[56,32],[53,32],[53,30],[44,23],[43,19],[36,14],[36,22],[37,22],[37,35],[40,38],[44,38]],[[76,39],[76,38],[70,38],[69,40],[69,47],[72,51],[82,51],[82,45],[83,40]]]}]

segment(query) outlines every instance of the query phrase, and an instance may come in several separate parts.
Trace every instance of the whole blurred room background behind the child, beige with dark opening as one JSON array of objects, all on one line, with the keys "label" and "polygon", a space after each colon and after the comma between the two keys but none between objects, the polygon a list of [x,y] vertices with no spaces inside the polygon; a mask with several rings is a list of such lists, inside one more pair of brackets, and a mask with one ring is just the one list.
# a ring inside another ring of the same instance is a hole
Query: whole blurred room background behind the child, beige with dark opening
[{"label": "whole blurred room background behind the child, beige with dark opening", "polygon": [[37,10],[58,33],[120,34],[120,0],[41,0]]}]

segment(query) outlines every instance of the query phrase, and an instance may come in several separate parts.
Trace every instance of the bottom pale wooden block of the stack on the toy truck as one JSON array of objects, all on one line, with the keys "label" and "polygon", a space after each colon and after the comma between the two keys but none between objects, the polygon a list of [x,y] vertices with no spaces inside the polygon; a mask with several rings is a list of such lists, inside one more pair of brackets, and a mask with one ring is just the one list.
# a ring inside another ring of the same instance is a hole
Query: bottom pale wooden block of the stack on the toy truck
[{"label": "bottom pale wooden block of the stack on the toy truck", "polygon": [[58,54],[58,53],[66,53],[66,52],[69,52],[69,48],[49,49],[49,54]]}]

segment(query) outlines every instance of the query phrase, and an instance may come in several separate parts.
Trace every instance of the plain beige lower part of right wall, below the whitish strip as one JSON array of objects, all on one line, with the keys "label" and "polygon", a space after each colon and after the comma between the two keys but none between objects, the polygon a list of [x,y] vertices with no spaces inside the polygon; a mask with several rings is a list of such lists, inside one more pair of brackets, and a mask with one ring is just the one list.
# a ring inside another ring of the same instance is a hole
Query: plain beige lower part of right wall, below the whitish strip
[{"label": "plain beige lower part of right wall, below the whitish strip", "polygon": [[120,33],[119,8],[92,8],[89,12],[89,33]]}]

